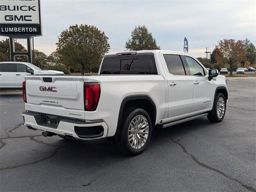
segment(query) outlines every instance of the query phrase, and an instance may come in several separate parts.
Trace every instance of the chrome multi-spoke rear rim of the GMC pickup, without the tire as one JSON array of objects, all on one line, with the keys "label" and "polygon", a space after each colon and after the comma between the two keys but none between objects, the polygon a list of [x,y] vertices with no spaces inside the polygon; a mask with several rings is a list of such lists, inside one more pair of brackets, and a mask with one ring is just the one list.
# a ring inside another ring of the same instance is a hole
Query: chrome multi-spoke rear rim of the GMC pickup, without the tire
[{"label": "chrome multi-spoke rear rim of the GMC pickup, without the tire", "polygon": [[134,149],[140,149],[148,139],[148,120],[143,115],[137,115],[132,119],[128,128],[128,141]]}]

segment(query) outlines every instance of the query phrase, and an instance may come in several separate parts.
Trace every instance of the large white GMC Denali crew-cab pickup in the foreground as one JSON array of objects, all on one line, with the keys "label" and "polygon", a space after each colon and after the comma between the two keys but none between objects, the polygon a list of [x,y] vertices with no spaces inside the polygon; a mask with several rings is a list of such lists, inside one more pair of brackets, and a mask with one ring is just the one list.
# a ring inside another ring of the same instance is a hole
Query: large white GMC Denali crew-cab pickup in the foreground
[{"label": "large white GMC Denali crew-cab pickup in the foreground", "polygon": [[23,82],[24,125],[44,136],[111,138],[136,155],[155,126],[207,116],[223,120],[226,78],[190,54],[143,50],[106,54],[96,76],[28,75]]}]

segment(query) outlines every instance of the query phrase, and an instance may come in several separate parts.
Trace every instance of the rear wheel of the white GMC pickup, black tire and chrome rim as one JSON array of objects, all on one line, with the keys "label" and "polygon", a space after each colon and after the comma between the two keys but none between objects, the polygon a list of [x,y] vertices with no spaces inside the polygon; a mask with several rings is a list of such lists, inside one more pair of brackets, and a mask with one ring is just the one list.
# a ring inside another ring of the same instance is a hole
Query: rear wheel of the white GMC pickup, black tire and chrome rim
[{"label": "rear wheel of the white GMC pickup, black tire and chrome rim", "polygon": [[148,146],[151,133],[152,124],[148,113],[141,108],[127,108],[115,142],[116,148],[124,154],[138,155]]}]

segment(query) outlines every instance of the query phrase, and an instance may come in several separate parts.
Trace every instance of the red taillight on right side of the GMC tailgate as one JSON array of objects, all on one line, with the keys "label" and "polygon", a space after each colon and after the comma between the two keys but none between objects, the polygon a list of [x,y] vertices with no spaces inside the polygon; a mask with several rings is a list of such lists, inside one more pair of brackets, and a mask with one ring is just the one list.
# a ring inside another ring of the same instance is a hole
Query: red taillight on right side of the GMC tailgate
[{"label": "red taillight on right side of the GMC tailgate", "polygon": [[100,99],[99,83],[84,83],[84,110],[95,111]]}]

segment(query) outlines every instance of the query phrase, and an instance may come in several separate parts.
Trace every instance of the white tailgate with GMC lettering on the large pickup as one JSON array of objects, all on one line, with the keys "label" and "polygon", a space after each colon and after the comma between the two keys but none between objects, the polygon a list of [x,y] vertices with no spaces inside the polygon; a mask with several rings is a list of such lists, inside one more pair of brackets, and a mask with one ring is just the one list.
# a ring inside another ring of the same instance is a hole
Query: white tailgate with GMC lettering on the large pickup
[{"label": "white tailgate with GMC lettering on the large pickup", "polygon": [[84,119],[82,76],[26,76],[26,110]]}]

